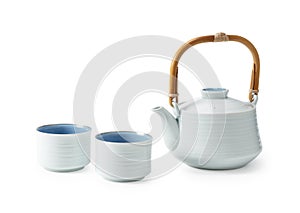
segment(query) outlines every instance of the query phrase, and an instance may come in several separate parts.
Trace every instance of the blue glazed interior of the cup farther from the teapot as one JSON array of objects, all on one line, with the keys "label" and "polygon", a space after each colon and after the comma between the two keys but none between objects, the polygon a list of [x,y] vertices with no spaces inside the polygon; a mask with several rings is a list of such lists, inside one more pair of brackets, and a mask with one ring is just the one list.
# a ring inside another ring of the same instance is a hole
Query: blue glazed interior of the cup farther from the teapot
[{"label": "blue glazed interior of the cup farther from the teapot", "polygon": [[78,126],[76,124],[51,124],[37,128],[37,131],[48,134],[77,134],[90,130],[90,127]]}]

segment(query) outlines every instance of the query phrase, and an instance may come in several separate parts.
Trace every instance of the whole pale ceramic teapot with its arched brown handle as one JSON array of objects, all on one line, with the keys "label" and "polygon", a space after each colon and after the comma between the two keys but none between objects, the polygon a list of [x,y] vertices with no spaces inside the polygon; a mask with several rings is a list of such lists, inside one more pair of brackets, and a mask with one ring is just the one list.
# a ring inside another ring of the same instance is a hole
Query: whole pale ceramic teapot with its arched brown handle
[{"label": "whole pale ceramic teapot with its arched brown handle", "polygon": [[[237,41],[251,51],[254,64],[249,100],[242,102],[227,97],[228,90],[206,88],[202,98],[178,103],[178,62],[191,46],[204,42]],[[166,146],[186,164],[203,169],[235,169],[252,161],[261,152],[256,120],[259,83],[259,56],[247,39],[224,33],[190,40],[176,53],[170,69],[169,103],[175,117],[163,107],[153,108],[167,123]]]}]

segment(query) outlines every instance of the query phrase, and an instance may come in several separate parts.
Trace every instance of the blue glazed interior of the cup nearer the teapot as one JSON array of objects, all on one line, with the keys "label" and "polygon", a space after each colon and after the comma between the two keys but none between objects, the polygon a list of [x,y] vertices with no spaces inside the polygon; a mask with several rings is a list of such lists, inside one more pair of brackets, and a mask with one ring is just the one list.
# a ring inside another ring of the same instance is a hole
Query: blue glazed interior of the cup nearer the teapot
[{"label": "blue glazed interior of the cup nearer the teapot", "polygon": [[132,142],[145,142],[152,140],[152,137],[147,134],[139,134],[137,132],[106,132],[96,135],[96,139],[104,142],[114,143],[132,143]]}]

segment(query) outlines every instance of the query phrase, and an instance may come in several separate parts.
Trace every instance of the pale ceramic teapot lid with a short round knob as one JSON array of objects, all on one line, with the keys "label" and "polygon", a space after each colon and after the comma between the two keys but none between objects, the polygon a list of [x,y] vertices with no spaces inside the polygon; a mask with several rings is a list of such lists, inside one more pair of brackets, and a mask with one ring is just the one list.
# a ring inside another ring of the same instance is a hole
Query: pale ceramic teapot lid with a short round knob
[{"label": "pale ceramic teapot lid with a short round knob", "polygon": [[181,103],[179,108],[184,113],[193,114],[223,114],[241,113],[255,109],[255,105],[227,97],[228,90],[224,88],[202,89],[202,98]]}]

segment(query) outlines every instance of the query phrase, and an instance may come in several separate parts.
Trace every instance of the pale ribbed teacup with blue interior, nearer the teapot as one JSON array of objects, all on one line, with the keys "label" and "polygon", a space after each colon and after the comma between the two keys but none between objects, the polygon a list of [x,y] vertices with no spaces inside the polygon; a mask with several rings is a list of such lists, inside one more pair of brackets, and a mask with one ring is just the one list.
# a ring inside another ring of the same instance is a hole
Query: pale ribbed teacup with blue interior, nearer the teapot
[{"label": "pale ribbed teacup with blue interior, nearer the teapot", "polygon": [[96,135],[96,171],[104,178],[128,182],[143,179],[151,172],[152,137],[119,131]]}]

